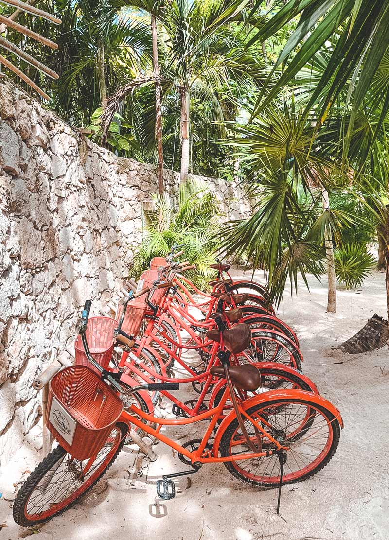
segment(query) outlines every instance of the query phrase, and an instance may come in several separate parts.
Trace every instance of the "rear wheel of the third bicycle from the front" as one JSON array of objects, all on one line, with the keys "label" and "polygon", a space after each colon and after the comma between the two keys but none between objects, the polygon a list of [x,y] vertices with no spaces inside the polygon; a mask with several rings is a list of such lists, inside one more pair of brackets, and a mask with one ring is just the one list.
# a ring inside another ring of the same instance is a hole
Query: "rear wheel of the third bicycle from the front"
[{"label": "rear wheel of the third bicycle from the front", "polygon": [[235,355],[238,363],[277,362],[301,371],[303,356],[296,345],[274,330],[252,333],[249,347]]}]

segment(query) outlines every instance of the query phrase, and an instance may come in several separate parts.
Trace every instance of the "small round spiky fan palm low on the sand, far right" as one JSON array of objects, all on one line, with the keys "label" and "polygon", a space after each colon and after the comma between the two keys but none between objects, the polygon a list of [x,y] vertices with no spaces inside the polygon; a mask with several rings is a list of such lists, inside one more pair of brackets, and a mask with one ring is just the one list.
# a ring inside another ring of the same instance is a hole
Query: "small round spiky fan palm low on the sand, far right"
[{"label": "small round spiky fan palm low on the sand, far right", "polygon": [[360,287],[377,264],[363,244],[345,244],[335,249],[335,274],[347,289]]}]

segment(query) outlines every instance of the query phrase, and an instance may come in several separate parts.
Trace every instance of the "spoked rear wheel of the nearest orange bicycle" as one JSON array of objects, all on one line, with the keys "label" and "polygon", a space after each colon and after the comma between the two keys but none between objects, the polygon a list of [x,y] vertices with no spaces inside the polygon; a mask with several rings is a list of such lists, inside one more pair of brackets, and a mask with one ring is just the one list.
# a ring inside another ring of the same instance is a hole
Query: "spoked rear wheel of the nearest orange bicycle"
[{"label": "spoked rear wheel of the nearest orange bicycle", "polygon": [[[325,407],[303,399],[277,399],[260,403],[247,411],[250,416],[286,450],[283,483],[300,482],[317,474],[331,460],[339,444],[339,422]],[[309,422],[313,416],[313,422]],[[254,437],[253,424],[245,420],[249,436]],[[276,445],[263,435],[263,450]],[[222,457],[251,453],[237,419],[225,429],[220,441]],[[256,486],[277,487],[280,465],[277,455],[253,457],[224,463],[226,469],[243,482]]]}]

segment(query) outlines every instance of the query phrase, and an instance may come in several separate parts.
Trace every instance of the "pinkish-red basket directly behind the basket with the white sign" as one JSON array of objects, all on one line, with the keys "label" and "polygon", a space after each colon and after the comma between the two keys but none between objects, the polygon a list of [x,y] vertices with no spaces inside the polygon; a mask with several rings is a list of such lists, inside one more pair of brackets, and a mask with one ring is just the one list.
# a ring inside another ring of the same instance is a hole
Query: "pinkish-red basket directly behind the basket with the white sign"
[{"label": "pinkish-red basket directly behind the basket with the white sign", "polygon": [[[90,353],[96,362],[106,369],[110,363],[113,351],[113,330],[117,327],[115,319],[110,317],[91,317],[86,328],[86,341],[88,341]],[[77,336],[75,342],[76,365],[88,366],[98,373],[86,357],[81,336]]]}]

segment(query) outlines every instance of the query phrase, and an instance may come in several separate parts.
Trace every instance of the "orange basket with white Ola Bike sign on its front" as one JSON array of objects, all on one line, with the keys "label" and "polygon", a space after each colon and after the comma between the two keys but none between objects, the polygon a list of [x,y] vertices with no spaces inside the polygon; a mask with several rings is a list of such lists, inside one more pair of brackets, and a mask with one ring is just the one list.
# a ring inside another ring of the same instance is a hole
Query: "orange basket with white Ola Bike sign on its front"
[{"label": "orange basket with white Ola Bike sign on its front", "polygon": [[50,381],[46,426],[77,460],[96,456],[123,410],[122,401],[95,372],[70,366]]}]

